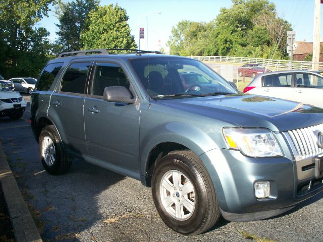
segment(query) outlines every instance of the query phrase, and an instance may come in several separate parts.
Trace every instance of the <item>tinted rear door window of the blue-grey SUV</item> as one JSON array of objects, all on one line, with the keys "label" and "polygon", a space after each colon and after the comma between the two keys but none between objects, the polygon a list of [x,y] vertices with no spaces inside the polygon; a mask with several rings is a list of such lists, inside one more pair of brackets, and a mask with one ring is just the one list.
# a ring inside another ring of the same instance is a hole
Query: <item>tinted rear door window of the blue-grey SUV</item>
[{"label": "tinted rear door window of the blue-grey SUV", "polygon": [[85,94],[86,80],[92,62],[73,63],[65,72],[62,84],[62,92]]}]

